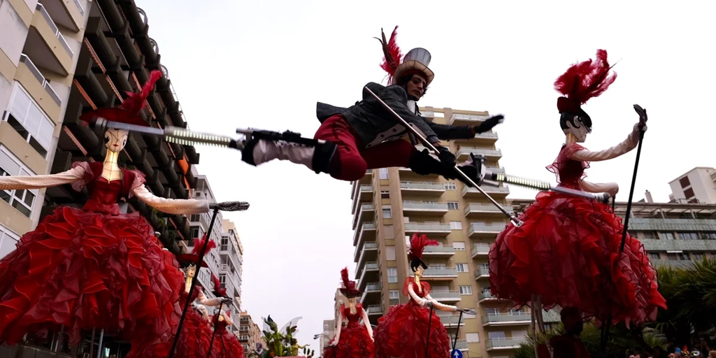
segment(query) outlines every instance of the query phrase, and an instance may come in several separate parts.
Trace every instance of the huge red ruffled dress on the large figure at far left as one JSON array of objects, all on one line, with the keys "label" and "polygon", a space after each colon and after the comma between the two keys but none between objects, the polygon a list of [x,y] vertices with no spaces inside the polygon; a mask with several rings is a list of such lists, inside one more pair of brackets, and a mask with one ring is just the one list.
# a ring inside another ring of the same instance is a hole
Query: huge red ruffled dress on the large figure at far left
[{"label": "huge red ruffled dress on the large figure at far left", "polygon": [[61,327],[72,344],[82,329],[160,337],[178,321],[183,274],[145,218],[117,205],[144,175],[122,169],[109,182],[102,163],[78,165],[85,175],[73,187],[91,193],[82,210],[57,208],[0,261],[0,342]]}]

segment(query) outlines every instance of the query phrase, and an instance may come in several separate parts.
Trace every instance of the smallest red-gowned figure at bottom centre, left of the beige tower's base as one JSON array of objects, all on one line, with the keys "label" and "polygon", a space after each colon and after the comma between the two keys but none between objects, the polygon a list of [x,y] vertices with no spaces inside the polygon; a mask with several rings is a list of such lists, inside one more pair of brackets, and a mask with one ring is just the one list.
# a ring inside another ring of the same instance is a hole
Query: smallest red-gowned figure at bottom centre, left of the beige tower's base
[{"label": "smallest red-gowned figure at bottom centre, left of the beige tower's base", "polygon": [[[375,356],[373,329],[363,305],[360,302],[356,303],[356,297],[360,296],[361,292],[356,288],[355,281],[349,281],[348,268],[341,270],[341,279],[343,281],[341,294],[348,299],[348,306],[343,305],[339,309],[336,337],[329,342],[329,347],[324,349],[323,357],[373,358]],[[344,319],[348,320],[345,327],[343,327]],[[362,325],[361,319],[363,319]]]}]

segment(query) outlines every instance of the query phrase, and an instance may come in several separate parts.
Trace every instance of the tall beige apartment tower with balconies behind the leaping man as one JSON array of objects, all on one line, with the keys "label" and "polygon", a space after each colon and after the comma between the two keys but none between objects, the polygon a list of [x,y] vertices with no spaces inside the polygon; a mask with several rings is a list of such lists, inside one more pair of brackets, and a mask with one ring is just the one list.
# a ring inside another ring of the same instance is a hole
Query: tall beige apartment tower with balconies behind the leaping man
[{"label": "tall beige apartment tower with balconies behind the leaping man", "polygon": [[[478,125],[488,117],[488,112],[450,108],[425,107],[421,111],[425,117],[449,125]],[[458,162],[467,160],[469,153],[481,154],[491,170],[504,173],[497,140],[497,133],[486,132],[474,139],[443,144],[450,145]],[[483,190],[507,206],[508,188],[484,186]],[[408,239],[413,233],[424,233],[440,241],[440,246],[427,247],[423,254],[430,266],[423,277],[432,286],[430,295],[442,303],[478,312],[459,321],[458,314],[437,311],[451,339],[460,325],[456,348],[465,357],[512,357],[529,329],[531,316],[527,309],[516,311],[505,302],[498,304],[489,293],[488,250],[507,222],[497,208],[458,180],[417,175],[407,168],[369,171],[353,183],[352,200],[356,278],[372,324],[377,324],[390,306],[408,301],[402,294],[403,283],[412,274]],[[545,318],[556,319],[550,314]]]}]

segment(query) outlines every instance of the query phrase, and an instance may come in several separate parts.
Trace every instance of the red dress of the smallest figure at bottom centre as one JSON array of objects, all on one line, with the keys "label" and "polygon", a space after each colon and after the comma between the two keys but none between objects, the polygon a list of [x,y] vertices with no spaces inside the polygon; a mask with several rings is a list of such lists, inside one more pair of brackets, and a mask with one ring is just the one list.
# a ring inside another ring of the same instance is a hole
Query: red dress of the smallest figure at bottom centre
[{"label": "red dress of the smallest figure at bottom centre", "polygon": [[[324,349],[324,358],[373,358],[375,349],[373,340],[370,339],[368,329],[360,324],[363,305],[358,303],[355,306],[356,313],[351,313],[350,306],[342,306],[341,314],[348,320],[348,324],[341,327],[341,335],[335,347],[329,346]],[[331,340],[334,342],[335,338]]]}]

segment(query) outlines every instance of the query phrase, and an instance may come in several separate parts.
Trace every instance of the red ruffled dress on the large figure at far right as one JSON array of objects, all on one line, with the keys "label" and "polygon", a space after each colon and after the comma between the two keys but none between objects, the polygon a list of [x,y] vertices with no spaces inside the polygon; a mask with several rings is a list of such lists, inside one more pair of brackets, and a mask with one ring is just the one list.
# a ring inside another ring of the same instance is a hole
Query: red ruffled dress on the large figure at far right
[{"label": "red ruffled dress on the large figure at far right", "polygon": [[[581,190],[589,163],[571,158],[583,149],[566,145],[547,167],[559,186]],[[666,309],[644,245],[627,236],[619,253],[624,226],[609,205],[544,191],[520,219],[523,226],[508,224],[490,248],[490,289],[498,298],[521,306],[541,295],[545,309],[576,307],[587,317],[611,314],[627,324],[654,320],[657,307]]]}]

